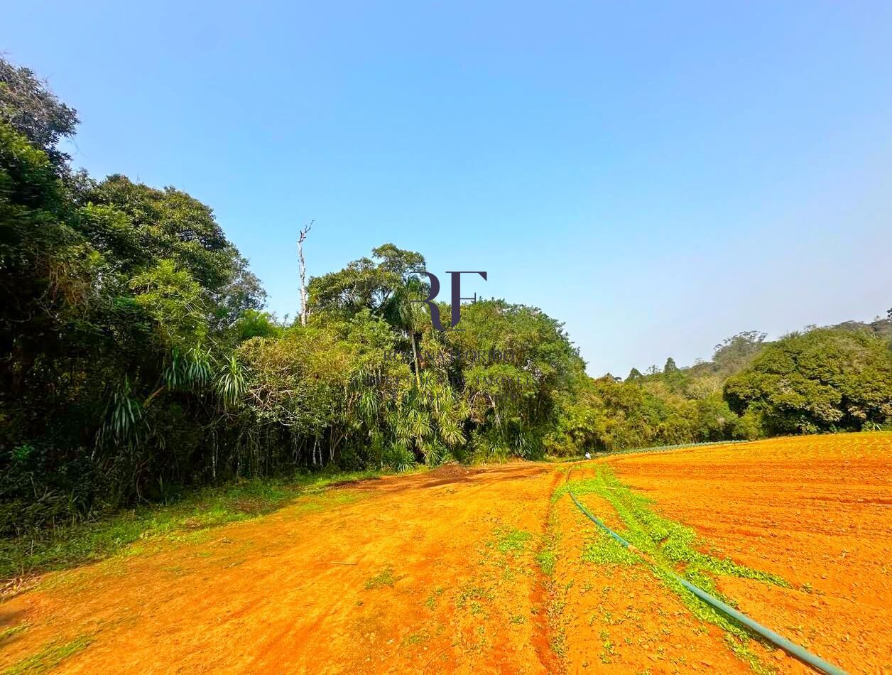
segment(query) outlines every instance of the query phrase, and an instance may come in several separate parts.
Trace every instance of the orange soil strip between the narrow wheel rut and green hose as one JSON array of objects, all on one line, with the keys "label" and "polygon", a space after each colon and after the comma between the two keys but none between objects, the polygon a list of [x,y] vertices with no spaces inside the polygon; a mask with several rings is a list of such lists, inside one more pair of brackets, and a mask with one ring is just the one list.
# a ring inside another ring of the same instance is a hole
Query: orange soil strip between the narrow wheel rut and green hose
[{"label": "orange soil strip between the narrow wheel rut and green hose", "polygon": [[[589,477],[591,471],[580,468],[572,475],[574,480]],[[623,529],[609,503],[594,495],[586,495],[584,502],[607,527]],[[549,629],[565,671],[751,671],[724,642],[723,630],[694,617],[643,563],[583,560],[586,544],[603,535],[570,496],[554,504],[549,525],[558,556],[546,587],[551,606],[559,610]],[[752,651],[764,662],[774,661],[755,646]]]}]

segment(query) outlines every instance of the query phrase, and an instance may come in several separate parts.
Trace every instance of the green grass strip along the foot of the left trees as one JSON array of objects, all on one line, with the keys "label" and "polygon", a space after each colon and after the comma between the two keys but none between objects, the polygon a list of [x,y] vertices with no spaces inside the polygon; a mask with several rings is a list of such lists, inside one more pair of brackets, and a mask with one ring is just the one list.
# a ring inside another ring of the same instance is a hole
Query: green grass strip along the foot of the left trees
[{"label": "green grass strip along the foot of the left trees", "polygon": [[[187,492],[169,504],[145,504],[113,513],[100,521],[3,538],[0,539],[0,579],[96,562],[119,554],[134,542],[159,537],[178,542],[200,541],[204,530],[274,512],[304,495],[319,496],[318,500],[301,504],[301,509],[306,511],[344,504],[357,496],[343,492],[323,494],[326,487],[380,475],[376,471],[362,471],[298,474],[288,479],[244,479]],[[132,546],[131,549],[136,552]]]}]

